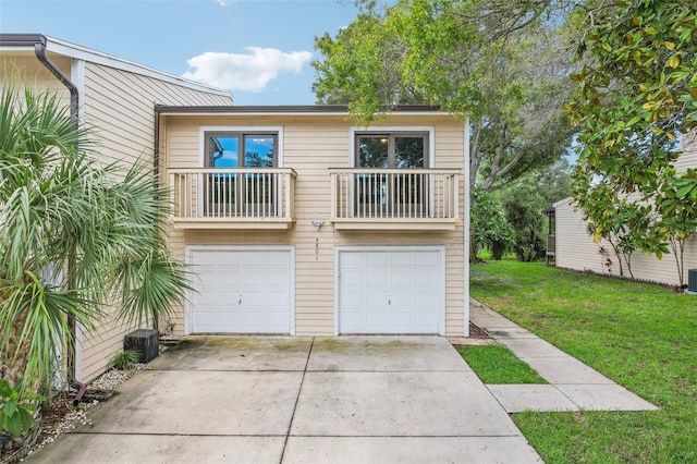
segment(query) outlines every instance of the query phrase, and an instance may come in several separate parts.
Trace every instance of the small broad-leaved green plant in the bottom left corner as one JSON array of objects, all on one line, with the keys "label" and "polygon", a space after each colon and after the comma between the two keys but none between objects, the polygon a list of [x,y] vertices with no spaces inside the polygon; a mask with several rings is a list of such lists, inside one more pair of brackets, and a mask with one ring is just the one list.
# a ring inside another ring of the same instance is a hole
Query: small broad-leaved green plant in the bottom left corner
[{"label": "small broad-leaved green plant in the bottom left corner", "polygon": [[34,415],[36,403],[44,401],[44,396],[15,390],[7,380],[0,379],[0,422],[2,434],[19,437],[36,425]]}]

